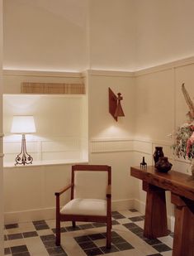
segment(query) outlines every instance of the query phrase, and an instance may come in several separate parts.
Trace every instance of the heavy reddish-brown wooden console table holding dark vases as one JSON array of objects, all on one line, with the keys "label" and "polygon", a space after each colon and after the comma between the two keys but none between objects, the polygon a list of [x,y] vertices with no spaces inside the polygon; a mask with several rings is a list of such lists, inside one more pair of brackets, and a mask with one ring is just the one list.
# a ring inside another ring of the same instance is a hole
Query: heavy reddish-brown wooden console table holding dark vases
[{"label": "heavy reddish-brown wooden console table holding dark vases", "polygon": [[143,181],[147,192],[144,236],[168,234],[165,191],[175,205],[173,256],[194,256],[194,178],[177,171],[162,173],[154,167],[130,167],[130,175]]}]

